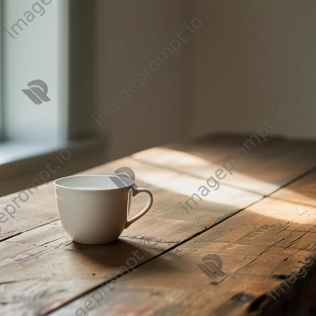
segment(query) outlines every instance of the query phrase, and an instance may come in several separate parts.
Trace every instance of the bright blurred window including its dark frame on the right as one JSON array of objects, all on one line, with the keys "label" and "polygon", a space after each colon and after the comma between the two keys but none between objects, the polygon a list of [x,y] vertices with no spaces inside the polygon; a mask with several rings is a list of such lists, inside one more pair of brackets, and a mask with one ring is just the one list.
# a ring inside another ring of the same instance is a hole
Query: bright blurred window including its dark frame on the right
[{"label": "bright blurred window including its dark frame on the right", "polygon": [[[35,166],[39,155],[100,147],[91,119],[93,22],[94,1],[0,0],[0,170],[6,164],[7,179],[10,161],[18,176],[26,167],[16,161],[24,158],[34,157]],[[84,168],[103,162],[103,155],[92,158]]]}]

